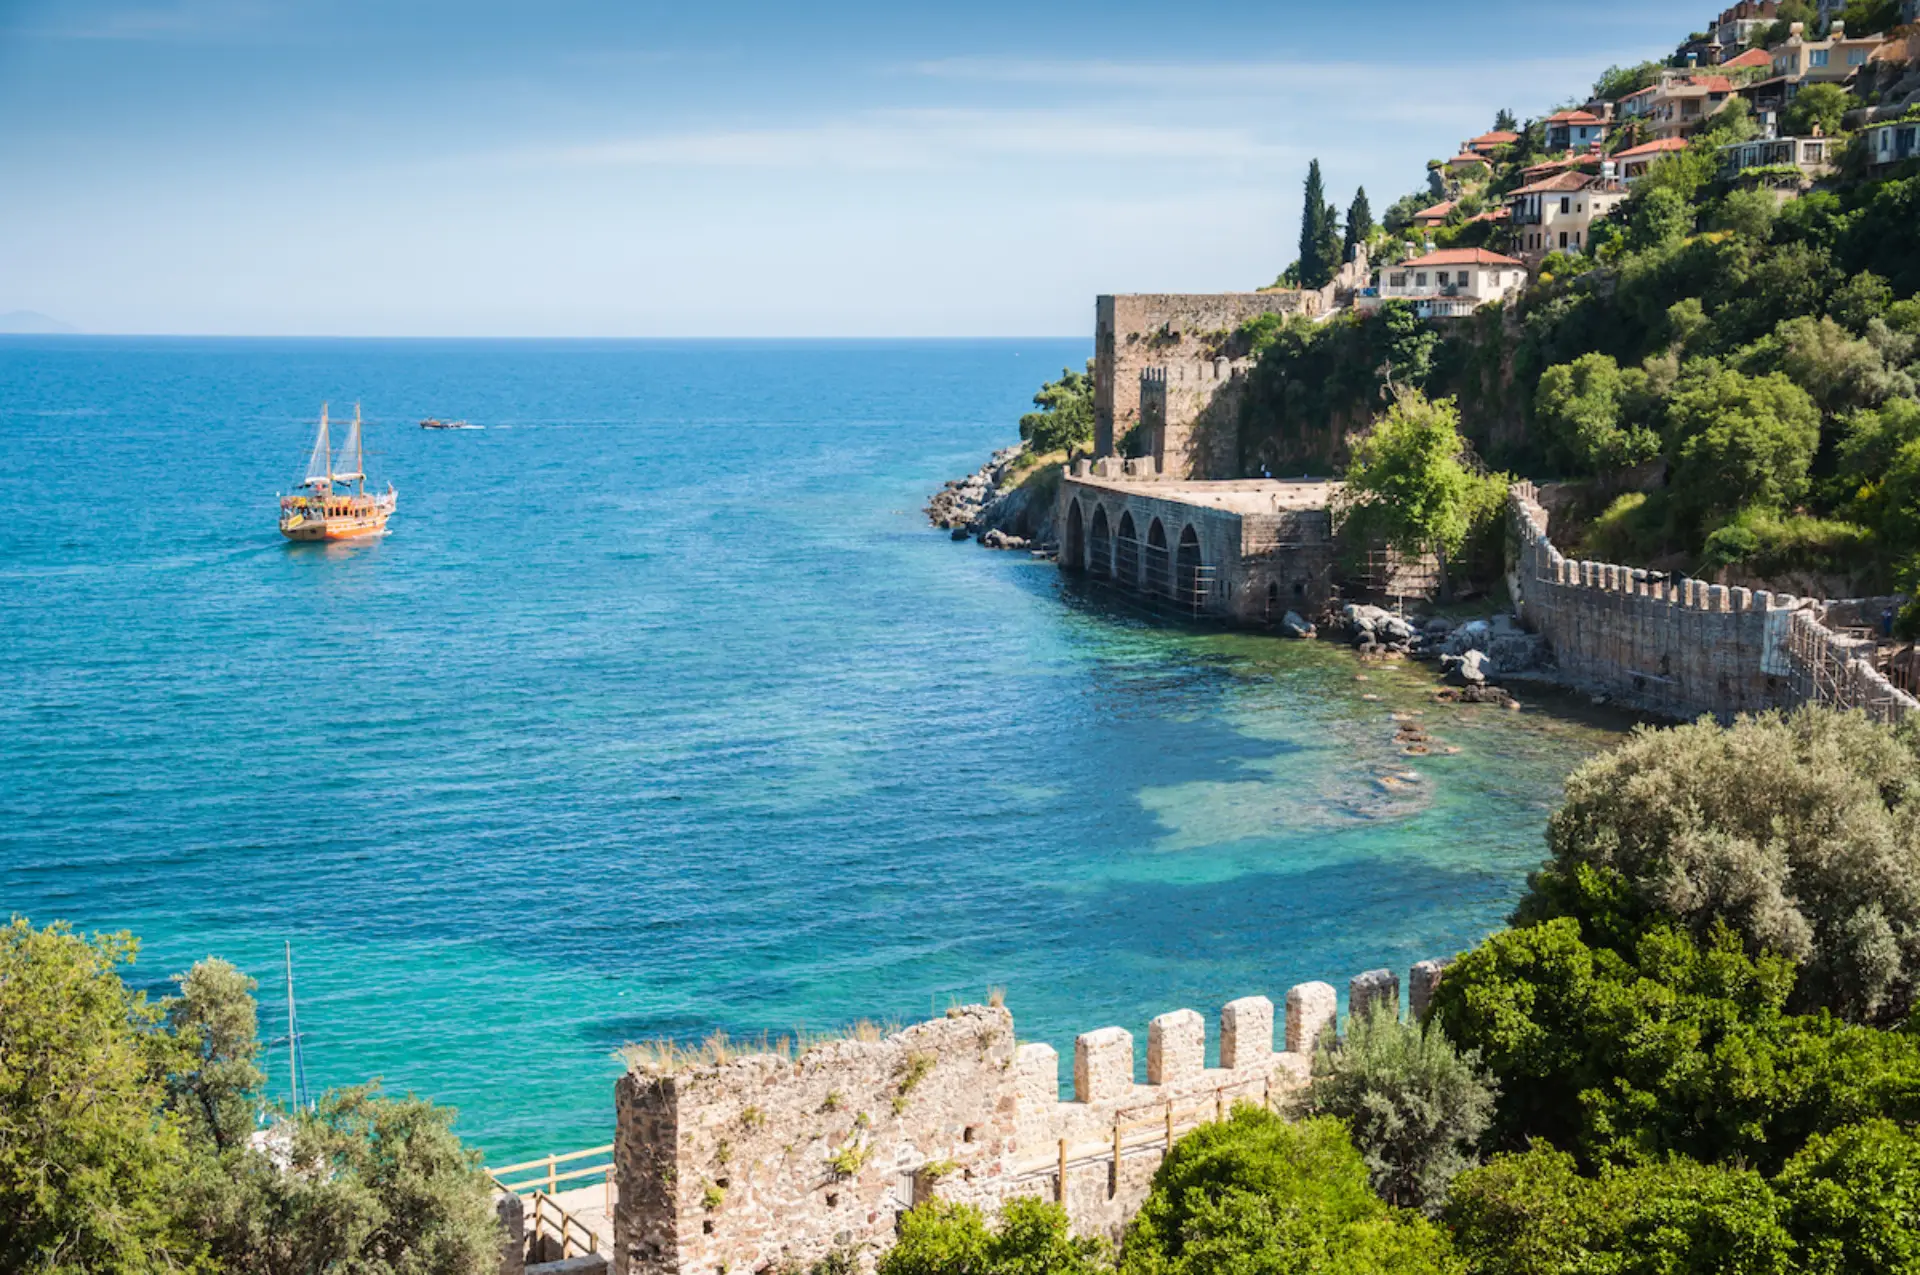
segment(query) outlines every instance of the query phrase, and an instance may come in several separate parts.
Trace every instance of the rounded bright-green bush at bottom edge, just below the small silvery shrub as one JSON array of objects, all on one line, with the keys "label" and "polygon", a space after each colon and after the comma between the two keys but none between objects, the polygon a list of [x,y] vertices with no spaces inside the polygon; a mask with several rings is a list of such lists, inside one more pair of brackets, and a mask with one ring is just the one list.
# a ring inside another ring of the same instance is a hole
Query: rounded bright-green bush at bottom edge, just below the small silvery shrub
[{"label": "rounded bright-green bush at bottom edge, just below the small silvery shrub", "polygon": [[1438,1275],[1446,1231],[1388,1208],[1338,1119],[1252,1106],[1181,1139],[1127,1227],[1125,1275]]}]

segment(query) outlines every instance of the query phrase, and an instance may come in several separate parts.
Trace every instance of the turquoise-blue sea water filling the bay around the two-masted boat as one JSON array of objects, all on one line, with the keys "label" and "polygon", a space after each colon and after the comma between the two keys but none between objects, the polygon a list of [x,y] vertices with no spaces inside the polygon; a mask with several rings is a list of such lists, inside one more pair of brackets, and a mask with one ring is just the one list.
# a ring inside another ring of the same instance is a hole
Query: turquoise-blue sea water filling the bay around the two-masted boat
[{"label": "turquoise-blue sea water filling the bay around the two-masted boat", "polygon": [[[292,941],[313,1077],[493,1162],[605,1141],[637,1037],[993,985],[1069,1052],[1475,941],[1607,730],[929,530],[1083,357],[0,340],[0,910],[136,931],[156,989],[236,960],[269,1033]],[[378,543],[275,532],[323,397],[399,488]]]}]

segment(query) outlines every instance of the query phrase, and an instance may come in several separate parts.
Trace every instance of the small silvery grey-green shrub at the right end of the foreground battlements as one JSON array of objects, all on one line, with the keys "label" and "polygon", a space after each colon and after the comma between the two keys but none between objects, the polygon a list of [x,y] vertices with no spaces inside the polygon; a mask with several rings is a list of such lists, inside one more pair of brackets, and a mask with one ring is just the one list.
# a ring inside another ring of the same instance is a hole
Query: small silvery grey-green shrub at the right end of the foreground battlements
[{"label": "small silvery grey-green shrub at the right end of the foreground battlements", "polygon": [[1496,1091],[1438,1023],[1402,1023],[1377,1006],[1315,1054],[1302,1110],[1346,1121],[1382,1200],[1438,1214],[1446,1185],[1476,1162]]}]

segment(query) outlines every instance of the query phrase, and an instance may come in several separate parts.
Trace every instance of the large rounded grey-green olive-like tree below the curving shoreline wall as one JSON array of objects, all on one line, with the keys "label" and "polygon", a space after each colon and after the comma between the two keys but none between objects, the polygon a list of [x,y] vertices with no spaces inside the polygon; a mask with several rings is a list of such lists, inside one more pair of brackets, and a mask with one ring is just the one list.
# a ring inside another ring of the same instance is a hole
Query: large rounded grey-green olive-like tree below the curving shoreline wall
[{"label": "large rounded grey-green olive-like tree below the curving shoreline wall", "polygon": [[[1797,1008],[1905,1018],[1920,977],[1920,737],[1805,709],[1640,730],[1582,764],[1519,918],[1628,950],[1672,920],[1801,962]],[[1592,870],[1592,872],[1588,872]],[[1605,879],[1605,889],[1592,883]]]}]

